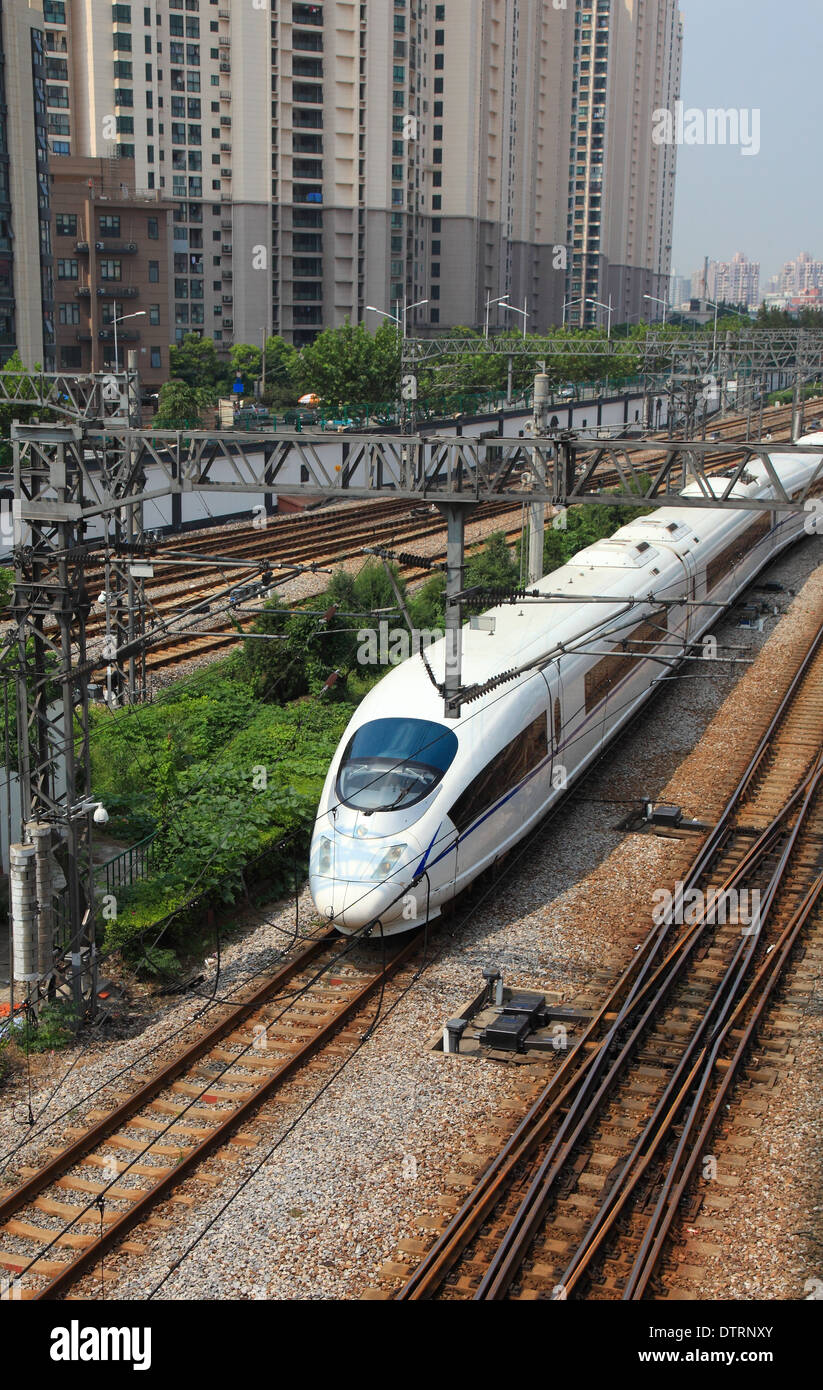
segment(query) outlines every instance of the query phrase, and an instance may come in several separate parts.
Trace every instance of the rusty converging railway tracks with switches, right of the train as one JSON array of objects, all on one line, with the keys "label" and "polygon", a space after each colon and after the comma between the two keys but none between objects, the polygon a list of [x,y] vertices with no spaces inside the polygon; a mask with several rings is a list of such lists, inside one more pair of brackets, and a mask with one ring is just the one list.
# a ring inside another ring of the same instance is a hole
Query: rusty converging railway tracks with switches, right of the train
[{"label": "rusty converging railway tracks with switches, right of the train", "polygon": [[398,1300],[666,1297],[712,1131],[735,1083],[756,1083],[752,1044],[798,947],[820,945],[822,691],[819,634],[666,920]]}]

